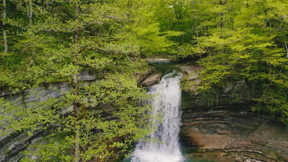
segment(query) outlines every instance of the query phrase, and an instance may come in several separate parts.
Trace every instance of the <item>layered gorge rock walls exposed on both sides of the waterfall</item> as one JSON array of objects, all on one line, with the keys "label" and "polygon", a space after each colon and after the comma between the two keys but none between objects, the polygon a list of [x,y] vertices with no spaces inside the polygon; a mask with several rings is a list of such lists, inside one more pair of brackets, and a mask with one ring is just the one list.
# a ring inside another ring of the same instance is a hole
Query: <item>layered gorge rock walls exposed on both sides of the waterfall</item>
[{"label": "layered gorge rock walls exposed on both sides of the waterfall", "polygon": [[[271,117],[266,111],[251,111],[250,107],[255,102],[250,98],[259,95],[257,86],[247,84],[246,81],[237,81],[200,95],[197,94],[197,88],[201,86],[200,72],[203,67],[192,63],[176,64],[173,67],[184,74],[180,143],[188,158],[215,162],[288,161],[286,125],[277,117]],[[140,75],[138,83],[155,84],[162,76],[163,72],[152,68]],[[96,75],[85,72],[81,75],[82,81],[96,79]],[[0,97],[31,106],[47,98],[59,98],[70,88],[68,83],[58,83],[18,94],[2,91]],[[72,110],[72,106],[66,107],[61,113]],[[99,114],[109,118],[108,111],[113,110],[99,110]],[[35,130],[32,136],[28,136],[26,132],[14,133],[11,130],[8,134],[0,136],[0,162],[19,161],[23,157],[21,151],[31,149],[28,147],[29,144],[38,142],[48,133],[49,129]],[[37,157],[31,155],[30,158]]]}]

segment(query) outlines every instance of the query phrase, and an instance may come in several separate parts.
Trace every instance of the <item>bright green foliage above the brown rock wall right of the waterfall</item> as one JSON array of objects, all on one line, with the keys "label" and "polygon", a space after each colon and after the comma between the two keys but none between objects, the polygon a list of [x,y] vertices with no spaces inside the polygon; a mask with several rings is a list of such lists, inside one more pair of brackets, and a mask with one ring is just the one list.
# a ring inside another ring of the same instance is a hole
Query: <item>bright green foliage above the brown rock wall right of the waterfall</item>
[{"label": "bright green foliage above the brown rock wall right of the waterfall", "polygon": [[264,95],[251,99],[256,109],[268,108],[287,123],[286,6],[286,0],[193,0],[185,7],[194,21],[186,31],[194,37],[179,47],[178,56],[199,58],[207,91],[232,81],[257,81]]}]

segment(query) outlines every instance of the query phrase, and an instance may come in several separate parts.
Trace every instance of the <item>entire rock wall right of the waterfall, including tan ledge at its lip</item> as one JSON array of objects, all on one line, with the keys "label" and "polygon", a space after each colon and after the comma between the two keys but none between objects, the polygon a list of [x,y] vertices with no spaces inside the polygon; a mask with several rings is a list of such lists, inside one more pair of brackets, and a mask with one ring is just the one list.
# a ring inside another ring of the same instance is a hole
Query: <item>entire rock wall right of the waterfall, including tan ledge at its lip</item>
[{"label": "entire rock wall right of the waterfall, including tan ledge at its lip", "polygon": [[195,95],[191,92],[200,83],[201,67],[185,64],[181,69],[186,74],[186,91],[182,92],[180,141],[189,159],[288,161],[287,126],[266,111],[251,111],[254,102],[250,98],[258,95],[257,87],[238,81],[208,94]]}]

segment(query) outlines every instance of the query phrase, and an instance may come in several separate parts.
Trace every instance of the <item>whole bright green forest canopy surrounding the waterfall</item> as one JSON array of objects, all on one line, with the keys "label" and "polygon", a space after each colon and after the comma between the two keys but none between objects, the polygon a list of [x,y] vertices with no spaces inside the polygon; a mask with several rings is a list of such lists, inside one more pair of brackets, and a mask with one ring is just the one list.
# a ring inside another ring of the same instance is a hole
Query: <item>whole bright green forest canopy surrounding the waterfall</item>
[{"label": "whole bright green forest canopy surrounding the waterfall", "polygon": [[[48,131],[34,146],[42,161],[127,154],[149,132],[149,106],[138,104],[149,96],[136,79],[156,56],[204,66],[202,93],[256,85],[252,108],[288,124],[287,8],[288,0],[2,0],[1,92],[63,82],[70,90],[32,105],[1,97],[1,134]],[[83,72],[96,77],[83,81]]]}]

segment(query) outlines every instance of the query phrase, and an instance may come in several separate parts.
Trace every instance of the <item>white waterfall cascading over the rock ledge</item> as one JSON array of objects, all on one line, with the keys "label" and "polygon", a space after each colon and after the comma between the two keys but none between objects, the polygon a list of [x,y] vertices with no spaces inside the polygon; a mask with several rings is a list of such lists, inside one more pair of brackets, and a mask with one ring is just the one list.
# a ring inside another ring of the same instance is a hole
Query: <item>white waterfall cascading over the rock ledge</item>
[{"label": "white waterfall cascading over the rock ledge", "polygon": [[[149,93],[156,95],[153,106],[153,122],[156,131],[150,134],[151,141],[139,141],[132,154],[132,162],[182,162],[178,134],[181,125],[181,73],[173,70],[153,85]],[[159,121],[159,114],[161,121]],[[159,142],[155,142],[159,140]],[[153,142],[154,141],[154,142]]]}]

